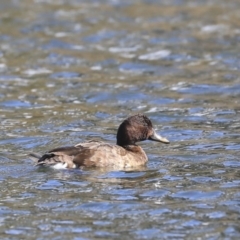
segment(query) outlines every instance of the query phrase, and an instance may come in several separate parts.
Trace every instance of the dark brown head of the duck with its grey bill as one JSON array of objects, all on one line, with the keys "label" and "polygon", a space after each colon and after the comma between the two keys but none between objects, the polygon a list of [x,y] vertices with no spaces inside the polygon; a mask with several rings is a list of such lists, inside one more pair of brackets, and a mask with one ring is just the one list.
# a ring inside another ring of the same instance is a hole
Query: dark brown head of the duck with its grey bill
[{"label": "dark brown head of the duck with its grey bill", "polygon": [[152,140],[169,143],[166,138],[158,135],[153,129],[152,122],[142,114],[131,116],[124,120],[118,128],[117,145],[135,145],[136,142]]}]

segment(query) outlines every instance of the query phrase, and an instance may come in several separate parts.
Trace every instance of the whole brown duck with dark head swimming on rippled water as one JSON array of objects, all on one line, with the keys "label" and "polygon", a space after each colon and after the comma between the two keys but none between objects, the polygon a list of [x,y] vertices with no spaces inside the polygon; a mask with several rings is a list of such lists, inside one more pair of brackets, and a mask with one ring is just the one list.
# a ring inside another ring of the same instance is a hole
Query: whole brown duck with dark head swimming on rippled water
[{"label": "whole brown duck with dark head swimming on rippled water", "polygon": [[137,142],[151,140],[168,144],[169,140],[159,135],[151,120],[143,114],[125,119],[117,130],[116,144],[98,140],[78,143],[75,146],[54,148],[43,155],[31,153],[36,166],[63,168],[134,168],[147,163],[148,157]]}]

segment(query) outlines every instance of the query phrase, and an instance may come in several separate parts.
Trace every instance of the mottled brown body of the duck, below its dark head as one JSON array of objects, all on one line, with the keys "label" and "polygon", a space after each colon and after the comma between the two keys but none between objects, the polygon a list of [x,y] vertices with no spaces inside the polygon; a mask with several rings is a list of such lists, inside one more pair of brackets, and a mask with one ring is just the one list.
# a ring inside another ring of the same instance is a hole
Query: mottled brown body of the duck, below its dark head
[{"label": "mottled brown body of the duck, below its dark head", "polygon": [[101,141],[89,141],[75,146],[56,148],[38,159],[37,165],[56,168],[118,167],[128,168],[144,165],[147,156],[141,147],[123,148]]}]

